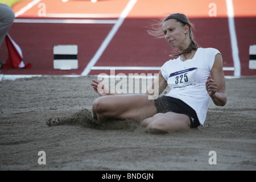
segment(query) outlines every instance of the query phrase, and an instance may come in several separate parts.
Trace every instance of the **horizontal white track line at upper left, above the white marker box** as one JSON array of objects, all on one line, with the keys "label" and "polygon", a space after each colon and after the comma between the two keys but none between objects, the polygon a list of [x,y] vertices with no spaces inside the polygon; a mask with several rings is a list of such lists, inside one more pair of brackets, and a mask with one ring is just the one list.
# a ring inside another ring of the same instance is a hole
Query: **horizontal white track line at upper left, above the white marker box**
[{"label": "horizontal white track line at upper left, above the white marker box", "polygon": [[14,19],[14,23],[86,23],[86,24],[115,24],[114,19]]}]

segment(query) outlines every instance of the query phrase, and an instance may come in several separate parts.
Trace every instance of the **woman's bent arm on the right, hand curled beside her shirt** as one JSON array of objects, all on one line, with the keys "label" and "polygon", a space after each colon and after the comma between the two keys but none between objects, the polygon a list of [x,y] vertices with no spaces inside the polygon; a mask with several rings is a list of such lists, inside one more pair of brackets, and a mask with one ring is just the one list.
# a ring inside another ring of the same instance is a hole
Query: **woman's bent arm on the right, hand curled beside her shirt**
[{"label": "woman's bent arm on the right, hand curled beside her shirt", "polygon": [[226,83],[223,73],[222,57],[218,53],[215,56],[214,64],[211,70],[211,76],[207,78],[205,86],[212,101],[217,106],[226,105]]}]

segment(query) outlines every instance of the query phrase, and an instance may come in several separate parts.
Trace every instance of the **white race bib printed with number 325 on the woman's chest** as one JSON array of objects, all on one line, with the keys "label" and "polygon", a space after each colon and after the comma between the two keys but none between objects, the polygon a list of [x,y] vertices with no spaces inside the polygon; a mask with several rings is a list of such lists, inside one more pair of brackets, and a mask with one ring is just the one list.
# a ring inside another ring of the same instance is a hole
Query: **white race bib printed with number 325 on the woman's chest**
[{"label": "white race bib printed with number 325 on the woman's chest", "polygon": [[197,84],[196,69],[189,68],[171,73],[168,78],[168,85],[171,89],[184,89]]}]

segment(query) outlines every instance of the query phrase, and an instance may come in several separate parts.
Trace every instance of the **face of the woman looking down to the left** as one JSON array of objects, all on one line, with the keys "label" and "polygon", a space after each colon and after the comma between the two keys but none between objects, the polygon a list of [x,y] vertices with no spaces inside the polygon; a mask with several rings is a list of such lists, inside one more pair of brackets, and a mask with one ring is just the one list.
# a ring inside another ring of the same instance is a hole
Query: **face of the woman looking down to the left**
[{"label": "face of the woman looking down to the left", "polygon": [[[163,33],[167,42],[174,48],[184,46],[186,34],[188,34],[187,26],[181,26],[176,19],[168,19],[163,23]],[[186,32],[186,34],[184,33]]]}]

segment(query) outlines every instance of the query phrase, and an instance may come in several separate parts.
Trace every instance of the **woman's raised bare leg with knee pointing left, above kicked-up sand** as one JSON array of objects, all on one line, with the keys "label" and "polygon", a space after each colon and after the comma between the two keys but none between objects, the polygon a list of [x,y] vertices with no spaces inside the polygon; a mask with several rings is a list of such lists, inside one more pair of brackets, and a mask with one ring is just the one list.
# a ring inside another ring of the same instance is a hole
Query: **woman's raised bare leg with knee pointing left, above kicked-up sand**
[{"label": "woman's raised bare leg with knee pointing left, above kicked-up sand", "polygon": [[104,122],[108,118],[142,121],[156,114],[154,100],[147,95],[103,96],[93,102],[93,117]]}]

